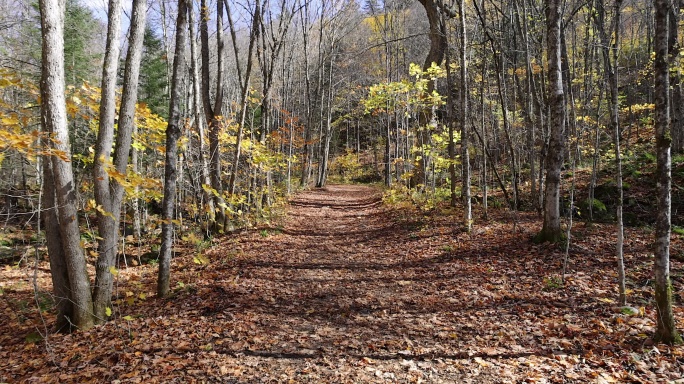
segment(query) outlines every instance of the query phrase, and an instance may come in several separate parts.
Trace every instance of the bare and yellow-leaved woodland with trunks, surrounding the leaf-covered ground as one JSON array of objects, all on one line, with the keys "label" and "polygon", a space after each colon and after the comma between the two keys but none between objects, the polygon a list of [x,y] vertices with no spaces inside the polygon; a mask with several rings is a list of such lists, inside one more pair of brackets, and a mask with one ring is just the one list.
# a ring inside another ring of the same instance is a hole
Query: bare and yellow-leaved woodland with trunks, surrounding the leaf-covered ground
[{"label": "bare and yellow-leaved woodland with trunks, surrounding the leaf-covered ground", "polygon": [[0,1],[0,256],[49,260],[53,330],[117,318],[129,263],[153,261],[170,297],[183,246],[205,265],[207,244],[275,226],[298,191],[375,183],[387,205],[453,207],[469,236],[534,217],[527,240],[564,250],[559,284],[573,223],[604,224],[603,289],[627,312],[625,227],[647,228],[650,336],[681,343],[679,0],[106,8]]}]

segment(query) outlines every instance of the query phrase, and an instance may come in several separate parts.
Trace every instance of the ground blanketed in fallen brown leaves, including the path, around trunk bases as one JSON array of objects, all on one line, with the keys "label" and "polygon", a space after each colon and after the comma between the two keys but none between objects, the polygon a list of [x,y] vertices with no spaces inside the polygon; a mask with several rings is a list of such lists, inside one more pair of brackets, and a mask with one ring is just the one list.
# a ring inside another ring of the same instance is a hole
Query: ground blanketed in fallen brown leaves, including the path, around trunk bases
[{"label": "ground blanketed in fallen brown leaves, including the path, around trunk bases", "polygon": [[[302,192],[281,225],[226,236],[203,257],[183,250],[170,298],[153,295],[153,264],[122,267],[115,319],[70,335],[47,334],[54,314],[37,309],[47,261],[0,266],[0,382],[684,377],[684,348],[650,340],[652,232],[627,229],[627,315],[615,303],[612,226],[576,224],[563,284],[564,251],[531,241],[534,214],[491,211],[470,235],[460,215],[387,206],[371,187]],[[682,329],[680,261],[672,274]]]}]

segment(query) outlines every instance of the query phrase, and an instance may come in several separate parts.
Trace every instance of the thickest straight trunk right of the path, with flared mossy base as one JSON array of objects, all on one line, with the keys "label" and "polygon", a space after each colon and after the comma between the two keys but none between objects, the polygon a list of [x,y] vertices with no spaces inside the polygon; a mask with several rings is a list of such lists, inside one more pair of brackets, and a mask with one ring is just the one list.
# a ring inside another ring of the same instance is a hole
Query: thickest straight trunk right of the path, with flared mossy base
[{"label": "thickest straight trunk right of the path, with flared mossy base", "polygon": [[560,227],[560,171],[565,152],[565,95],[561,73],[561,8],[562,0],[547,2],[546,23],[548,43],[550,107],[549,148],[546,155],[546,191],[544,225],[537,235],[539,241],[558,242],[563,237]]}]

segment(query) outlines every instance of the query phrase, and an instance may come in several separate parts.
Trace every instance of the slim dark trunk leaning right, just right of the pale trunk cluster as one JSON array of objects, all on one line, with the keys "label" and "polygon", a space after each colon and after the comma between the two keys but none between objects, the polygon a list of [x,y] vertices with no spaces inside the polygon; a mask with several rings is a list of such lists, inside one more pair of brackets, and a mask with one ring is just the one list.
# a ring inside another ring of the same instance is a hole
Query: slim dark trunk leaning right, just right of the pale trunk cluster
[{"label": "slim dark trunk leaning right, just right of the pale trunk cluster", "polygon": [[164,166],[164,199],[162,202],[162,243],[159,252],[159,276],[157,295],[169,293],[171,277],[171,256],[173,251],[173,207],[176,196],[176,161],[178,161],[178,138],[180,137],[181,76],[185,67],[185,46],[188,33],[188,5],[178,0],[176,20],[176,52],[173,60],[171,101],[169,103],[169,124],[166,128],[166,164]]}]

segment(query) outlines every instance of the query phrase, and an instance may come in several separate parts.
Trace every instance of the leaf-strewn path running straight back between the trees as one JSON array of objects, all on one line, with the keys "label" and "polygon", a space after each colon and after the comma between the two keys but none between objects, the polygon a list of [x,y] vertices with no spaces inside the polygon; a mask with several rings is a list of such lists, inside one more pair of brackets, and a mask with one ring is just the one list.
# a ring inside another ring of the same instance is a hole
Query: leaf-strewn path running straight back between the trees
[{"label": "leaf-strewn path running straight back between the trees", "polygon": [[[451,243],[425,230],[427,223],[395,217],[376,190],[329,186],[290,205],[282,233],[248,240],[238,262],[240,294],[228,299],[239,308],[232,311],[238,324],[257,322],[220,349],[244,356],[241,366],[253,366],[246,377],[501,382],[517,377],[514,366],[473,359],[524,362],[533,350],[546,353],[531,334],[508,337],[507,327],[522,325],[510,313],[519,307],[497,315],[487,305],[484,295],[501,297],[478,286],[489,283],[486,272],[484,281],[477,275],[491,262],[452,260]],[[467,297],[455,294],[468,289]],[[502,342],[509,348],[498,348]]]}]

